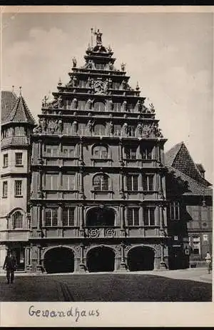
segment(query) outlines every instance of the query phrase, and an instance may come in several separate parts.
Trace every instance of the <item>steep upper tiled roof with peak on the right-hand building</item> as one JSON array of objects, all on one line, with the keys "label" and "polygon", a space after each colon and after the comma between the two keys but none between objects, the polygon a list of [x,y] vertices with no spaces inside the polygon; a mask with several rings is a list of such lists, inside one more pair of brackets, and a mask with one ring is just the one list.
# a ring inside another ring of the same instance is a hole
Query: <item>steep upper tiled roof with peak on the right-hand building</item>
[{"label": "steep upper tiled roof with peak on the right-hand building", "polygon": [[165,153],[165,164],[172,166],[183,174],[190,176],[195,181],[200,182],[205,186],[210,186],[210,183],[205,180],[200,173],[198,166],[193,161],[188,149],[183,142],[176,144]]}]

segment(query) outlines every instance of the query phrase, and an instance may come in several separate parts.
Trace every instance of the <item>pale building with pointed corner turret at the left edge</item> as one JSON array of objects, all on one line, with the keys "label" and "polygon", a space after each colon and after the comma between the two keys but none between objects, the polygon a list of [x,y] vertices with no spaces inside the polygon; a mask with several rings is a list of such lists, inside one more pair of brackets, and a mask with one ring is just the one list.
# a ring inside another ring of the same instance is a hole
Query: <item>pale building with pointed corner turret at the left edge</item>
[{"label": "pale building with pointed corner turret at the left edge", "polygon": [[36,126],[23,96],[1,92],[1,208],[0,262],[6,251],[25,269],[29,246],[30,134]]}]

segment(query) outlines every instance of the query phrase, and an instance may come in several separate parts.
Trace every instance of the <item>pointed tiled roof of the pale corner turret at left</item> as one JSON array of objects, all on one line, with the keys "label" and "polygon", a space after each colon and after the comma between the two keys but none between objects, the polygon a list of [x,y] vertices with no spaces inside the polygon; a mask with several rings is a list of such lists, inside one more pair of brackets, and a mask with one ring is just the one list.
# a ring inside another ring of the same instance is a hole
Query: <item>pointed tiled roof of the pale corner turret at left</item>
[{"label": "pointed tiled roof of the pale corner turret at left", "polygon": [[[13,93],[14,94],[14,93]],[[5,103],[5,101],[4,101]],[[11,103],[12,105],[12,103]],[[8,122],[18,122],[18,123],[29,123],[35,125],[35,121],[31,112],[29,111],[28,106],[26,105],[26,101],[24,101],[23,96],[16,96],[15,102],[11,109],[9,106],[6,107],[7,111],[4,113],[4,122],[2,124],[6,124]]]}]

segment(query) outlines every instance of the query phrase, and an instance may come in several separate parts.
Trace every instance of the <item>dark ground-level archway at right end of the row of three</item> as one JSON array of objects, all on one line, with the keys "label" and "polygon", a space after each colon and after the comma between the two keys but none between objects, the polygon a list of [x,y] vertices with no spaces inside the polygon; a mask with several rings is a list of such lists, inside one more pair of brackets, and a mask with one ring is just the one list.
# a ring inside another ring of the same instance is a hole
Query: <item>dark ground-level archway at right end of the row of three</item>
[{"label": "dark ground-level archway at right end of the row of three", "polygon": [[155,253],[149,246],[136,246],[128,251],[130,271],[151,271],[154,269]]}]

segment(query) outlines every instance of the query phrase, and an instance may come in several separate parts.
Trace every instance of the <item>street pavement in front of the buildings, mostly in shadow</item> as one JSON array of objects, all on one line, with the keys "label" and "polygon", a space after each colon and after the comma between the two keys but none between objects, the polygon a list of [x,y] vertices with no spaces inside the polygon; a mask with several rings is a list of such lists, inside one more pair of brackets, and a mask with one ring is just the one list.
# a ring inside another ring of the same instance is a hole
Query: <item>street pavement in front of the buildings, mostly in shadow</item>
[{"label": "street pavement in front of the buildings, mostly in shadow", "polygon": [[[116,274],[16,274],[0,276],[1,301],[211,301],[205,269]],[[207,283],[205,283],[207,282]]]}]

